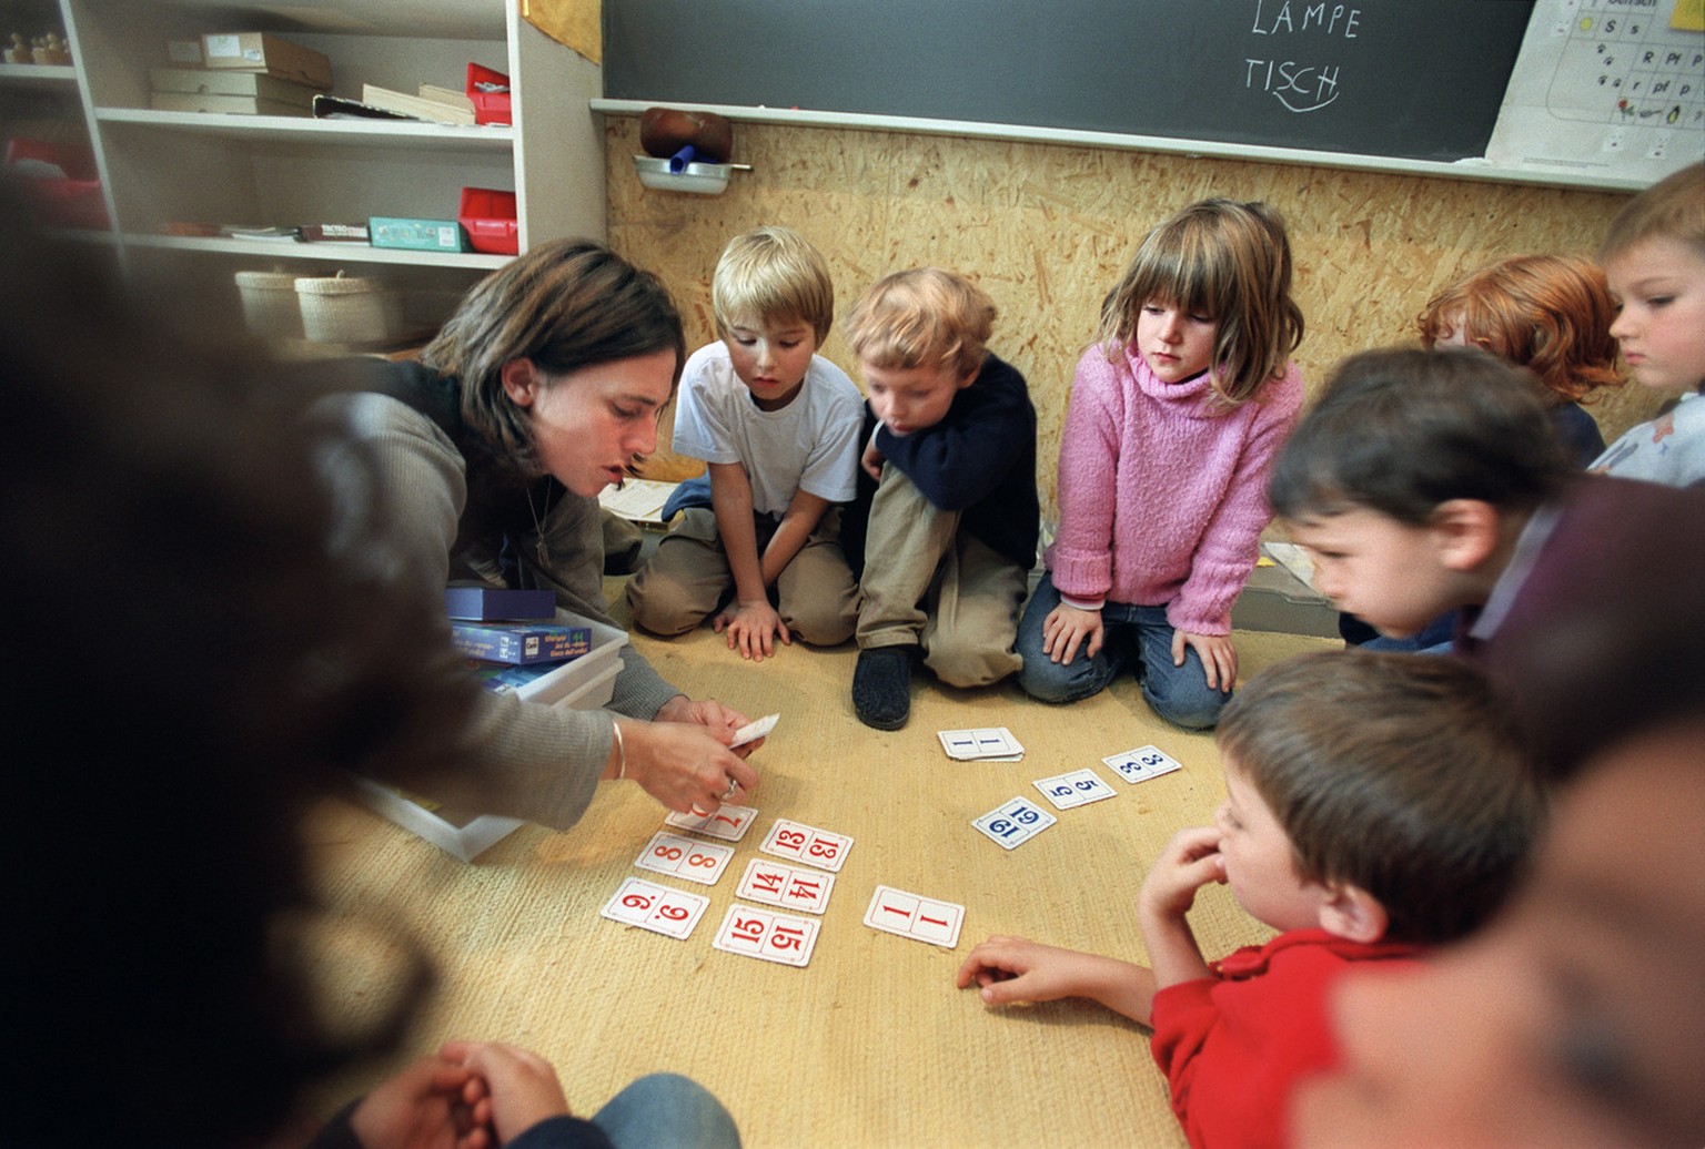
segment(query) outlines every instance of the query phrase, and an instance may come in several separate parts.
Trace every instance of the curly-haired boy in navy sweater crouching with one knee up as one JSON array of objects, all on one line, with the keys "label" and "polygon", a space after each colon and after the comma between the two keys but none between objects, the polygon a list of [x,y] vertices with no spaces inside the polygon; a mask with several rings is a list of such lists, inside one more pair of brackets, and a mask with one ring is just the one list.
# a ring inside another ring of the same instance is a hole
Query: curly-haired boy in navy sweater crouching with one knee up
[{"label": "curly-haired boy in navy sweater crouching with one knee up", "polygon": [[905,725],[914,653],[957,687],[1021,665],[1013,639],[1037,561],[1037,413],[1025,377],[985,349],[992,327],[989,297],[936,268],[880,280],[847,320],[875,426],[861,460],[852,675],[866,726]]}]

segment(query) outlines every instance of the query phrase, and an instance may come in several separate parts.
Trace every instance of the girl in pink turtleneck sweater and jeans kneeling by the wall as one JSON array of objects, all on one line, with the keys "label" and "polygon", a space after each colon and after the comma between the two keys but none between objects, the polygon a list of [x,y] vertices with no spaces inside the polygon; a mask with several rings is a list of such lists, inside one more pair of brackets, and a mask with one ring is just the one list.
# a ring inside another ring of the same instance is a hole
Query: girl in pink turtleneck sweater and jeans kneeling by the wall
[{"label": "girl in pink turtleneck sweater and jeans kneeling by the wall", "polygon": [[1161,718],[1219,719],[1231,603],[1303,406],[1301,339],[1272,208],[1204,199],[1147,234],[1072,380],[1059,534],[1018,627],[1028,694],[1074,702],[1130,667]]}]

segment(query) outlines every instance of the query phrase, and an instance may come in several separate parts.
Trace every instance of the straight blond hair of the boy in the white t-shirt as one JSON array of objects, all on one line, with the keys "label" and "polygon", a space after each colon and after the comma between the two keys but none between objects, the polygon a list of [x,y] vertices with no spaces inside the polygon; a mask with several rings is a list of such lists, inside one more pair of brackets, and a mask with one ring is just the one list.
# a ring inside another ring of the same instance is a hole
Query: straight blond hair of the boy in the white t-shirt
[{"label": "straight blond hair of the boy in the white t-shirt", "polygon": [[760,227],[723,247],[711,276],[716,334],[743,320],[800,320],[829,338],[835,320],[835,285],[812,244],[786,227]]}]

